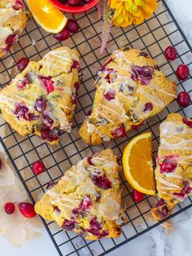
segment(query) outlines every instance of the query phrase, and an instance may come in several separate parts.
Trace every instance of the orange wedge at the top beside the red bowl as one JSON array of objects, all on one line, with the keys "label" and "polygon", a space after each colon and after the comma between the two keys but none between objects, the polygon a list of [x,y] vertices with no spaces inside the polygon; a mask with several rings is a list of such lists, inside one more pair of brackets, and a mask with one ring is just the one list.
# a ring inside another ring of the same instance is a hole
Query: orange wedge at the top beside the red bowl
[{"label": "orange wedge at the top beside the red bowl", "polygon": [[59,33],[68,19],[59,11],[50,0],[26,0],[33,18],[42,29],[50,33]]}]

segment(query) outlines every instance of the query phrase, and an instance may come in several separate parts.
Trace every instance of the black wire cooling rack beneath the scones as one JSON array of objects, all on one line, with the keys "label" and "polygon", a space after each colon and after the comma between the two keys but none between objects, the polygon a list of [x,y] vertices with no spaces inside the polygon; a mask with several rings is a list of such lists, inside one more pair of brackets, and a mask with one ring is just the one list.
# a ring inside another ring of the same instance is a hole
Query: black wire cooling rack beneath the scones
[{"label": "black wire cooling rack beneath the scones", "polygon": [[[192,66],[191,46],[187,42],[185,35],[168,9],[164,0],[159,1],[158,11],[145,23],[138,26],[130,26],[122,29],[113,27],[107,50],[103,55],[99,55],[102,21],[98,18],[96,9],[87,13],[76,15],[75,19],[81,26],[81,30],[72,35],[66,42],[57,42],[52,34],[45,33],[34,20],[28,20],[24,33],[20,36],[20,42],[15,44],[14,51],[11,50],[0,62],[0,84],[5,86],[12,77],[18,73],[16,67],[17,60],[21,57],[28,57],[30,60],[40,60],[46,52],[53,50],[57,46],[66,45],[76,48],[81,55],[81,69],[84,73],[84,81],[81,86],[78,99],[78,106],[74,115],[74,126],[70,134],[63,133],[60,136],[58,145],[50,146],[41,143],[36,136],[21,137],[11,127],[3,121],[0,116],[1,143],[7,156],[9,157],[20,181],[23,183],[30,200],[35,203],[37,196],[46,191],[46,185],[50,181],[57,181],[65,170],[83,157],[92,155],[98,150],[112,148],[116,155],[122,156],[125,145],[129,139],[140,132],[151,130],[153,136],[154,156],[159,144],[159,124],[170,112],[181,113],[191,117],[192,104],[185,109],[181,109],[177,100],[172,102],[168,108],[141,126],[137,131],[130,131],[128,137],[116,139],[111,143],[89,147],[78,136],[78,130],[85,114],[91,109],[94,99],[94,79],[98,69],[111,51],[122,46],[131,46],[148,52],[151,57],[159,62],[159,67],[164,73],[177,81],[175,70],[178,64],[188,64]],[[179,53],[177,60],[168,62],[164,58],[164,49],[173,45],[177,47]],[[191,77],[185,82],[179,82],[178,90],[186,90],[192,96]],[[33,161],[41,160],[46,166],[46,172],[38,176],[34,175],[31,169]],[[46,221],[41,218],[46,227],[51,240],[53,241],[59,255],[103,255],[113,249],[124,245],[137,236],[148,232],[151,228],[159,225],[151,219],[151,207],[154,205],[155,196],[145,196],[139,203],[134,203],[130,192],[132,188],[120,173],[121,187],[123,189],[123,201],[126,205],[128,221],[122,226],[123,234],[119,239],[103,239],[101,241],[85,241],[73,232],[64,232],[56,223]],[[181,213],[192,206],[191,198],[186,199],[177,205],[169,218]],[[168,219],[168,218],[167,218]]]}]

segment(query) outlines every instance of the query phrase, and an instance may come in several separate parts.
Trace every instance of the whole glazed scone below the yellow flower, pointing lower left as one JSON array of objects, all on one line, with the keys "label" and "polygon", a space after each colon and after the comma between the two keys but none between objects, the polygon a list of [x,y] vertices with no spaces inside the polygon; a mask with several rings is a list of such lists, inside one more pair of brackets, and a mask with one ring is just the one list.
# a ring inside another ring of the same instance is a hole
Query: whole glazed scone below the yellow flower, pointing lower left
[{"label": "whole glazed scone below the yellow flower, pointing lower left", "polygon": [[155,60],[134,49],[114,51],[98,72],[92,113],[81,126],[86,143],[124,137],[176,97],[177,85],[159,70]]}]

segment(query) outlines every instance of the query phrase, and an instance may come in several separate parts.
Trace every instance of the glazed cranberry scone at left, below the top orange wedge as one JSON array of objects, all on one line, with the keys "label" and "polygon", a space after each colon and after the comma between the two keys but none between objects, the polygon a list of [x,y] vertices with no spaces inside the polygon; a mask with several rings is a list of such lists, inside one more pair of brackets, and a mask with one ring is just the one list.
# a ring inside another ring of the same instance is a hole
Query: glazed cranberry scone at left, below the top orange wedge
[{"label": "glazed cranberry scone at left, below the top orange wedge", "polygon": [[68,47],[30,61],[10,85],[0,91],[2,116],[20,135],[59,141],[59,130],[70,132],[76,109],[79,57]]}]

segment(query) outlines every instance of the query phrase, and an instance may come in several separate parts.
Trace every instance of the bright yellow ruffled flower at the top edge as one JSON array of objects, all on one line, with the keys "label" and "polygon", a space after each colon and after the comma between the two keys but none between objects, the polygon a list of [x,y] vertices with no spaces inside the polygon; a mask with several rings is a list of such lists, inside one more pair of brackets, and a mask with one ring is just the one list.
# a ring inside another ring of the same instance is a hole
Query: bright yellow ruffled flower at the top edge
[{"label": "bright yellow ruffled flower at the top edge", "polygon": [[110,0],[110,6],[115,9],[113,24],[127,27],[149,19],[158,4],[157,0]]}]

